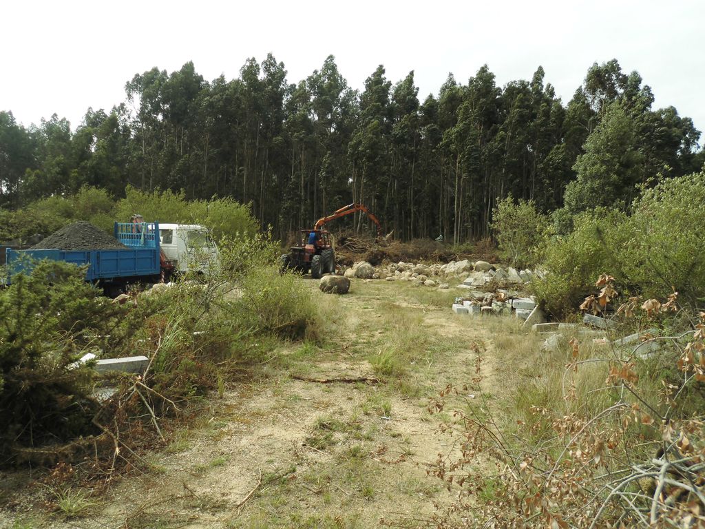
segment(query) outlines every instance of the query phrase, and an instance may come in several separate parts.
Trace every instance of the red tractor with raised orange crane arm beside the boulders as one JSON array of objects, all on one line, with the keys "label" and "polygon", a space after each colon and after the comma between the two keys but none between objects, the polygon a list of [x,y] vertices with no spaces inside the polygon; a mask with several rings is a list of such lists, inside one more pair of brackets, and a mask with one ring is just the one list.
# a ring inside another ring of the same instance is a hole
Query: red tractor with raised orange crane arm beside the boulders
[{"label": "red tractor with raised orange crane arm beside the boulders", "polygon": [[336,254],[331,245],[328,231],[321,229],[326,222],[338,219],[355,212],[367,213],[367,217],[377,226],[377,235],[381,237],[382,226],[379,220],[362,204],[350,204],[336,210],[327,217],[318,219],[313,229],[299,231],[299,239],[290,252],[281,256],[281,272],[293,269],[296,272],[308,274],[311,271],[313,279],[319,279],[323,274],[336,272]]}]

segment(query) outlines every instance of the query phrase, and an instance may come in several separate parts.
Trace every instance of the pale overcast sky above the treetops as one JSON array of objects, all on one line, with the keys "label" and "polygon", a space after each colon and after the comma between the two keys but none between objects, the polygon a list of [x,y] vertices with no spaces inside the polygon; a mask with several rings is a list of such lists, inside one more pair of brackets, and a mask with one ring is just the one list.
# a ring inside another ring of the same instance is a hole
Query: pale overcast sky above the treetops
[{"label": "pale overcast sky above the treetops", "polygon": [[0,20],[0,110],[25,126],[56,113],[75,128],[153,66],[193,61],[207,80],[232,79],[271,51],[289,83],[329,54],[357,89],[379,64],[393,83],[414,70],[421,100],[449,72],[466,83],[487,63],[504,85],[541,65],[564,104],[592,63],[618,59],[651,86],[654,107],[705,128],[702,0],[5,0]]}]

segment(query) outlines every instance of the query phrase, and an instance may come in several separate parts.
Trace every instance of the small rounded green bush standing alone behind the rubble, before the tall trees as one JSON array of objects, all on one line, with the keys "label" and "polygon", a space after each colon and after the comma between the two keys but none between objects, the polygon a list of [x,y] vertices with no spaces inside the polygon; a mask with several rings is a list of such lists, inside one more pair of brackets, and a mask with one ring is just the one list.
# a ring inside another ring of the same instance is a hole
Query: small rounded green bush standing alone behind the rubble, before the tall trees
[{"label": "small rounded green bush standing alone behind the rubble, before the tall trees", "polygon": [[491,224],[503,257],[515,267],[539,262],[548,226],[548,217],[537,211],[533,200],[515,202],[511,196],[498,203]]}]

